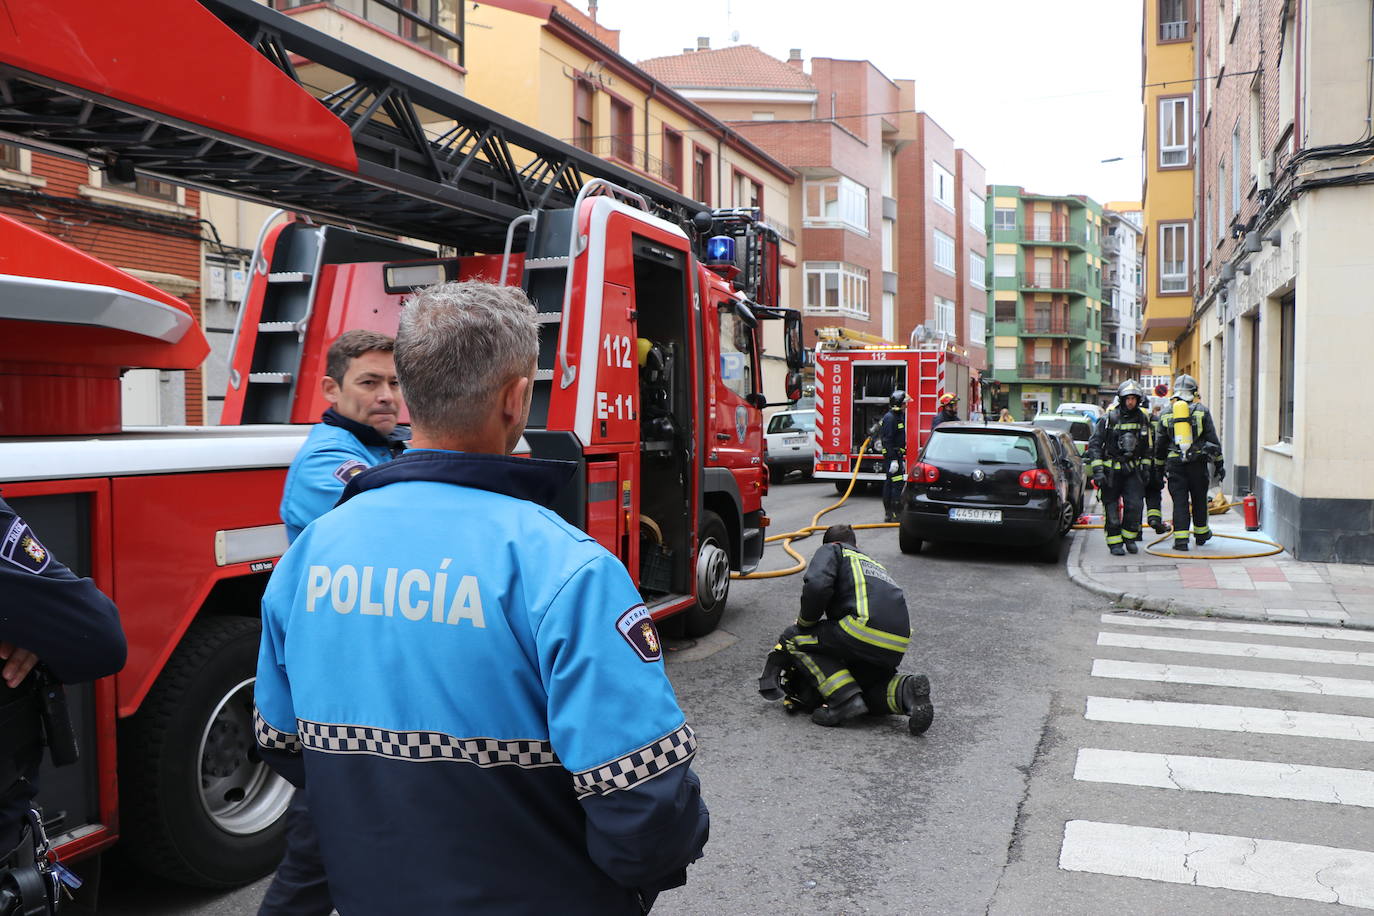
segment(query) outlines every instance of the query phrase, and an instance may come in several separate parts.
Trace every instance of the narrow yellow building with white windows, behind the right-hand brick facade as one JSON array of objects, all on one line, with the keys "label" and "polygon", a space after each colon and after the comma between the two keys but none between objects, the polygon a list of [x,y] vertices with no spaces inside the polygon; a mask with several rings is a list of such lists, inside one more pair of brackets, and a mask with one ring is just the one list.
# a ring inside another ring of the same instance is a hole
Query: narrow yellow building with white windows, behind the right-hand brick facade
[{"label": "narrow yellow building with white windows, behind the right-hand brick facade", "polygon": [[1143,339],[1169,345],[1175,374],[1198,376],[1191,331],[1197,284],[1197,22],[1193,16],[1190,0],[1145,0]]}]

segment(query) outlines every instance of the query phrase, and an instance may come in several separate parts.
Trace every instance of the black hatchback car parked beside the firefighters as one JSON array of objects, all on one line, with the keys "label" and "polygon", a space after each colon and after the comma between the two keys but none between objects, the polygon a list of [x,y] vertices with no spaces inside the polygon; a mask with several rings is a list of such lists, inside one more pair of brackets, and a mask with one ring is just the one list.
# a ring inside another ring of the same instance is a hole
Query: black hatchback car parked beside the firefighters
[{"label": "black hatchback car parked beside the firefighters", "polygon": [[1010,544],[1055,562],[1077,512],[1074,472],[1043,428],[941,423],[907,470],[899,545],[918,553],[925,541]]}]

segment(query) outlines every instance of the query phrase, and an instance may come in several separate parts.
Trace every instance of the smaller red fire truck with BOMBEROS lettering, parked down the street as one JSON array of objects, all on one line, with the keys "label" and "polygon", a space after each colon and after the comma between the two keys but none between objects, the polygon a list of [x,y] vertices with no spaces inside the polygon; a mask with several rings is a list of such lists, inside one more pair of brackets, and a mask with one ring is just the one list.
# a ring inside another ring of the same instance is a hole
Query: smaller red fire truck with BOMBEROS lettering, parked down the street
[{"label": "smaller red fire truck with BOMBEROS lettering, parked down the street", "polygon": [[[907,455],[912,459],[930,438],[940,396],[959,397],[962,417],[978,409],[981,391],[970,378],[969,358],[944,342],[901,346],[852,328],[818,328],[816,457],[813,475],[833,479],[844,493],[849,478],[882,483],[883,460],[877,426],[893,391],[905,391]],[[859,450],[872,437],[860,463]],[[856,486],[864,486],[859,483]]]}]

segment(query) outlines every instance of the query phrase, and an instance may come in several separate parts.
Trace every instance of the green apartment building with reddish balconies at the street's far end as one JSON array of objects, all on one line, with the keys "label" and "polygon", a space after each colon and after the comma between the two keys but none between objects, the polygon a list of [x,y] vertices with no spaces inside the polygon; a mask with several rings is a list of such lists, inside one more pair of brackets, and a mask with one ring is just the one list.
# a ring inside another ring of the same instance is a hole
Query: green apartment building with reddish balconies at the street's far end
[{"label": "green apartment building with reddish balconies at the street's far end", "polygon": [[988,330],[995,408],[1017,419],[1098,402],[1103,374],[1102,207],[1083,195],[995,184]]}]

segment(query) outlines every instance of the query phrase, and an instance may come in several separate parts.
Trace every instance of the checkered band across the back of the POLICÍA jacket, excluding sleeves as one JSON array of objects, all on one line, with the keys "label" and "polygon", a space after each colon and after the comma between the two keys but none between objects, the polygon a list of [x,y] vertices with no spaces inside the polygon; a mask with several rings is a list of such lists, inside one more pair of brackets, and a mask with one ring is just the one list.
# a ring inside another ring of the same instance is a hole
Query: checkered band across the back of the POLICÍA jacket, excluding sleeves
[{"label": "checkered band across the back of the POLIC\u00cdA jacket, excluding sleeves", "polygon": [[478,766],[559,766],[554,746],[539,739],[455,737],[444,732],[392,732],[365,725],[297,722],[301,746],[322,754],[372,754],[403,761],[459,761]]}]

